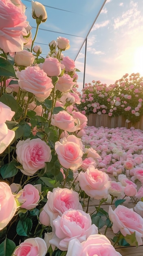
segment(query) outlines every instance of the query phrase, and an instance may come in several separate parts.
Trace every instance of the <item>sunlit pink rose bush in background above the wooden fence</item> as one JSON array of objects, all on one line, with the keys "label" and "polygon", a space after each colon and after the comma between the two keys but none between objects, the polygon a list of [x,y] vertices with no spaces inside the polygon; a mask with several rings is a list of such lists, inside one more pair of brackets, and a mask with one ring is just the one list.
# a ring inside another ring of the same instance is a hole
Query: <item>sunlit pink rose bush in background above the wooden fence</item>
[{"label": "sunlit pink rose bush in background above the wooden fence", "polygon": [[100,81],[85,84],[81,104],[77,106],[83,114],[108,114],[110,117],[123,115],[133,123],[143,115],[143,77],[139,73],[125,74],[114,84],[107,86]]}]

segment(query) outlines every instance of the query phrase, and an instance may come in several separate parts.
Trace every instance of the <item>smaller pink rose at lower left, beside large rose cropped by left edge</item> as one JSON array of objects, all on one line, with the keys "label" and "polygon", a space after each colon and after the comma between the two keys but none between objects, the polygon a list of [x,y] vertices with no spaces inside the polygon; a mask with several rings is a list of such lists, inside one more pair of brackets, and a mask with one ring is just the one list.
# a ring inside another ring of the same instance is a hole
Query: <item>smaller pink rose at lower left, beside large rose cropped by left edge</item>
[{"label": "smaller pink rose at lower left, beside large rose cropped by left edge", "polygon": [[40,200],[39,191],[32,184],[26,184],[23,189],[18,192],[18,202],[22,203],[20,208],[31,210],[38,205]]}]

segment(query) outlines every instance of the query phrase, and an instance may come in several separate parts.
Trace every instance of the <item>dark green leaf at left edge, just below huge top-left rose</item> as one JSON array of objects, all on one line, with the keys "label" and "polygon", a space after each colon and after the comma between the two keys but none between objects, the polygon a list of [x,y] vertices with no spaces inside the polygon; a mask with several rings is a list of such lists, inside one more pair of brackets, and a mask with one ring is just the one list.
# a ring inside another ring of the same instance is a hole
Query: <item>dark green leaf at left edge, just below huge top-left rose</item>
[{"label": "dark green leaf at left edge, just below huge top-left rose", "polygon": [[4,58],[0,58],[0,76],[15,76],[13,65]]}]

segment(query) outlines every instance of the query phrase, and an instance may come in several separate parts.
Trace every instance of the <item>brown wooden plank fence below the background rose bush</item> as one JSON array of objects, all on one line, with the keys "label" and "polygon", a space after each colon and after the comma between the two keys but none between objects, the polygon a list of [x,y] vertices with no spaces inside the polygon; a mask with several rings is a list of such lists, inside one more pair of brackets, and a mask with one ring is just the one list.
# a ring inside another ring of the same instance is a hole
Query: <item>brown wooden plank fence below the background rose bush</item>
[{"label": "brown wooden plank fence below the background rose bush", "polygon": [[136,129],[143,130],[143,116],[141,117],[139,122],[135,124],[126,123],[125,118],[122,116],[119,117],[109,117],[108,114],[90,114],[87,116],[88,118],[88,126],[95,126],[95,127],[108,127],[108,128],[117,128],[117,127],[134,127]]}]

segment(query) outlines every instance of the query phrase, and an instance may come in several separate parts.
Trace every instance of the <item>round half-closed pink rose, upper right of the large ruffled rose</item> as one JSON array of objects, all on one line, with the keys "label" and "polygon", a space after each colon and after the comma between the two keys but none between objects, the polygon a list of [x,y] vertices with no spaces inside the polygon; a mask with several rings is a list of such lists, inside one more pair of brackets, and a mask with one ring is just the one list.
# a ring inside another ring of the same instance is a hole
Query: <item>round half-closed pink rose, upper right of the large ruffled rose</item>
[{"label": "round half-closed pink rose, upper right of the large ruffled rose", "polygon": [[47,74],[47,76],[59,76],[61,74],[61,63],[57,58],[45,58],[41,68]]}]

